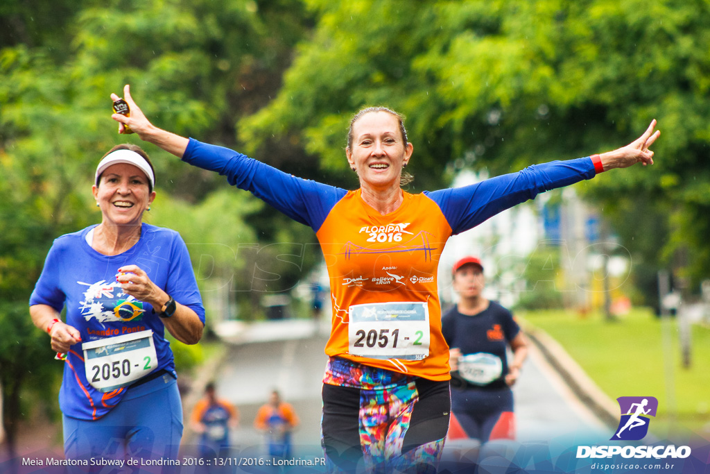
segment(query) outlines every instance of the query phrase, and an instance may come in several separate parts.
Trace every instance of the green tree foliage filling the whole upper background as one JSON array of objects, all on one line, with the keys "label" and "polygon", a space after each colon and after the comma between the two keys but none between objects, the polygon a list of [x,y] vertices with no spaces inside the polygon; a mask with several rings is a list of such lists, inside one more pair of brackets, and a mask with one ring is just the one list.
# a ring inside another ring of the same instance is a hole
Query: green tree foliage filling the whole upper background
[{"label": "green tree foliage filling the whole upper background", "polygon": [[[648,275],[672,263],[694,281],[706,276],[703,0],[48,5],[0,6],[4,303],[27,301],[53,238],[97,222],[89,187],[98,158],[138,142],[109,118],[109,94],[125,83],[158,126],[346,188],[357,183],[344,158],[349,119],[368,105],[408,117],[414,191],[448,185],[461,168],[495,175],[615,149],[656,118],[652,168],[578,189],[601,205],[634,268]],[[259,295],[290,289],[320,258],[306,227],[225,191],[214,173],[146,150],[160,196],[148,220],[182,232],[204,291],[229,281],[230,294],[248,294],[256,308]]]}]

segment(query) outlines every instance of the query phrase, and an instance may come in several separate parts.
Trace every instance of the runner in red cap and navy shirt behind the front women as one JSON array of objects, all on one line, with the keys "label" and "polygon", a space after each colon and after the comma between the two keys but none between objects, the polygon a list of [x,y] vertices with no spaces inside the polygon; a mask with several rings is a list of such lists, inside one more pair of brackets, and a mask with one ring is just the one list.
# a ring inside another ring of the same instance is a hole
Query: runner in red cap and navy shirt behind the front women
[{"label": "runner in red cap and navy shirt behind the front women", "polygon": [[[453,272],[459,303],[442,317],[451,357],[452,423],[458,422],[467,437],[481,444],[491,438],[513,439],[510,387],[520,375],[528,345],[510,311],[483,296],[480,259],[464,257],[454,264]],[[510,363],[508,346],[513,351]]]}]

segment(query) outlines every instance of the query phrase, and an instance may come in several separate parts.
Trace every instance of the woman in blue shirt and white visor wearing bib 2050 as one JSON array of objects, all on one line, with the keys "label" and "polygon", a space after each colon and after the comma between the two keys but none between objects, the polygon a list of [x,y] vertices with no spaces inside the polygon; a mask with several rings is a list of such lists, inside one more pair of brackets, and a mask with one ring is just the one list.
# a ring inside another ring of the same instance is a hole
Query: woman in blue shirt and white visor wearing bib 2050
[{"label": "woman in blue shirt and white visor wearing bib 2050", "polygon": [[182,404],[164,333],[197,343],[204,308],[178,232],[143,223],[154,185],[140,147],[104,155],[92,186],[101,223],[55,239],[30,298],[33,323],[65,360],[67,458],[178,454]]}]

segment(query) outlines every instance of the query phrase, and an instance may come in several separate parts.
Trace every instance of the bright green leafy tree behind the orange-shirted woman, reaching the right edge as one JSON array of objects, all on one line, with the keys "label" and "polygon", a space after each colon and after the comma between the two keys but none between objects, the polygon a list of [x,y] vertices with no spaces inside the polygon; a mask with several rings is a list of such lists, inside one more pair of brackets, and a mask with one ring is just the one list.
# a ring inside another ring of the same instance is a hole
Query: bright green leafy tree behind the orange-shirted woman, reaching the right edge
[{"label": "bright green leafy tree behind the orange-shirted woman, reaching the right edge", "polygon": [[[447,171],[517,171],[615,149],[658,119],[652,169],[578,185],[618,227],[635,260],[706,276],[710,257],[710,9],[701,0],[310,0],[315,33],[271,104],[240,122],[256,156],[271,136],[346,173],[357,109],[408,117],[413,188]],[[638,212],[638,202],[651,212]],[[665,225],[657,225],[657,220]],[[634,223],[631,227],[630,222]],[[625,227],[621,229],[621,227]],[[650,232],[660,230],[648,247]],[[643,242],[643,243],[642,243]]]}]

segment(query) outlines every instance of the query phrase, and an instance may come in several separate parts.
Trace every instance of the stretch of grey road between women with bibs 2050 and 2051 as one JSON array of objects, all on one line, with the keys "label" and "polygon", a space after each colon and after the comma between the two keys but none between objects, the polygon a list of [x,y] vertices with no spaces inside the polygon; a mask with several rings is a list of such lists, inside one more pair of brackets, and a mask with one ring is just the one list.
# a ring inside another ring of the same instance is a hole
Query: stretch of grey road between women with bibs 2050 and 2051
[{"label": "stretch of grey road between women with bibs 2050 and 2051", "polygon": [[253,421],[273,389],[293,405],[300,418],[293,436],[294,455],[321,456],[320,390],[327,361],[323,352],[326,329],[316,331],[310,321],[275,321],[251,325],[227,339],[239,344],[231,345],[226,362],[209,378],[217,384],[217,395],[239,409],[239,427],[231,433],[233,456],[265,453],[263,436],[253,428]]}]

